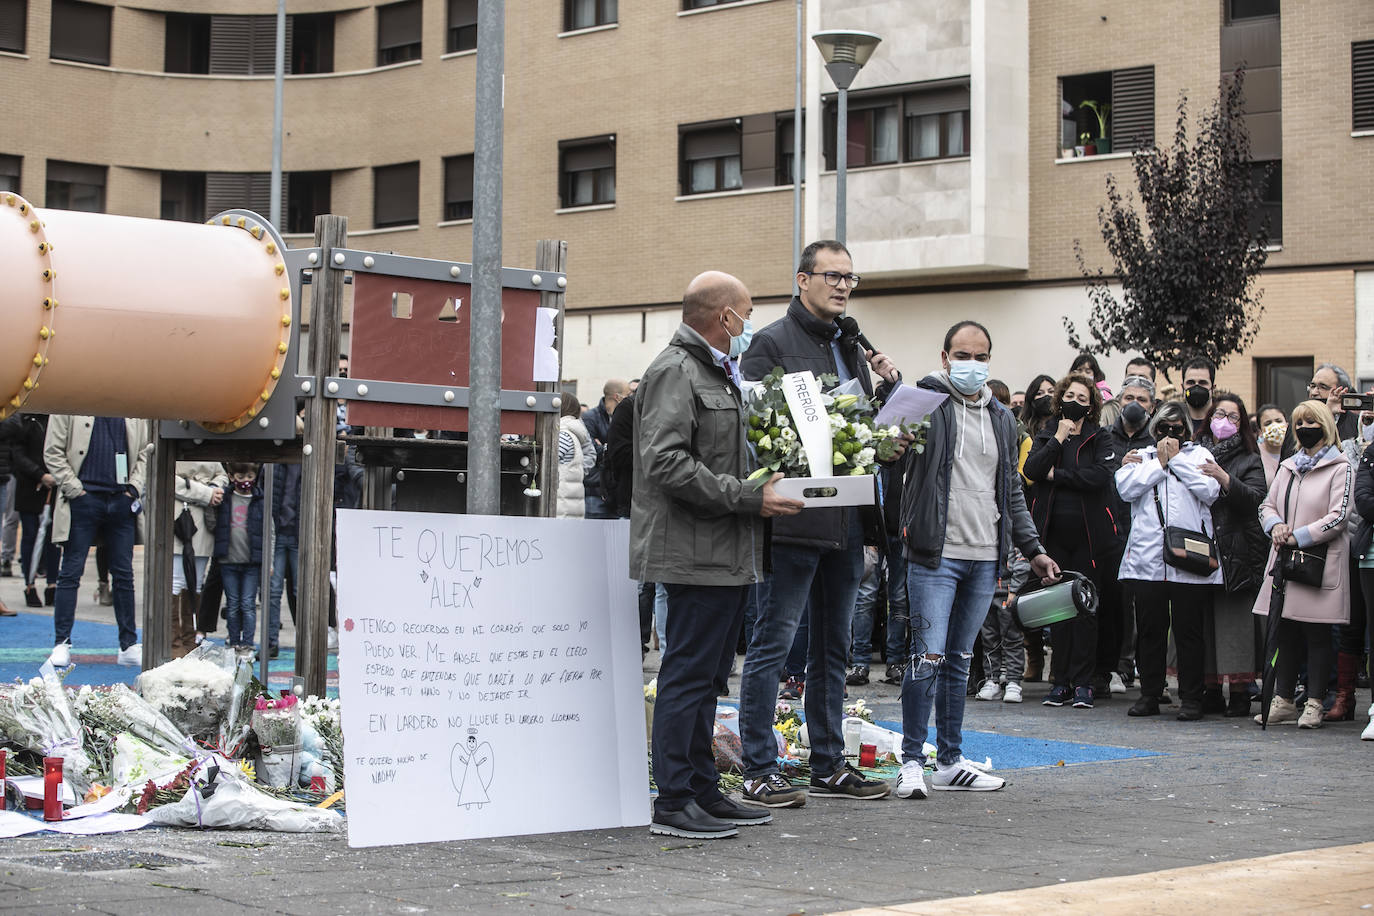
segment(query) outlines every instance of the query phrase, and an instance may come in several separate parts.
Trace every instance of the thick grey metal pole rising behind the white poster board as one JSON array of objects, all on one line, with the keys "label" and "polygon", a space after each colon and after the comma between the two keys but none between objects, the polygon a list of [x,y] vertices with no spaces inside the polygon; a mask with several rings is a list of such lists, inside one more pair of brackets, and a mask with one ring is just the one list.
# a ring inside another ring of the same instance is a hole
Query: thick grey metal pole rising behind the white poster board
[{"label": "thick grey metal pole rising behind the white poster board", "polygon": [[477,4],[477,115],[473,154],[471,389],[467,511],[500,514],[502,150],[506,107],[506,3]]}]

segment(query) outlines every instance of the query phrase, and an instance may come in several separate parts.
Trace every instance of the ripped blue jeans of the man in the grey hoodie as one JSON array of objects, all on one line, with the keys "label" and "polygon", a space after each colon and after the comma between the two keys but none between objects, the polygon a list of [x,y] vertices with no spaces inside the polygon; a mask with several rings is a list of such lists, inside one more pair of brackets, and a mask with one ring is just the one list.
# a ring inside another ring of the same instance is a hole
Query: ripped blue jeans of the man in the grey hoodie
[{"label": "ripped blue jeans of the man in the grey hoodie", "polygon": [[911,600],[911,665],[901,680],[901,754],[919,759],[936,710],[936,759],[963,754],[963,705],[973,640],[998,588],[996,560],[948,560],[929,569],[907,564]]}]

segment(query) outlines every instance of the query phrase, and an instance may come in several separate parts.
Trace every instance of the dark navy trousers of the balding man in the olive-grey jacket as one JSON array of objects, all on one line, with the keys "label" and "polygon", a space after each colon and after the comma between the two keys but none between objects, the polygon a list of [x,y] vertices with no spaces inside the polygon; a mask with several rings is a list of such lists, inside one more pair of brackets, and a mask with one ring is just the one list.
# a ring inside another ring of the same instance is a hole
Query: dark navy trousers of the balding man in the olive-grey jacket
[{"label": "dark navy trousers of the balding man in the olive-grey jacket", "polygon": [[716,696],[730,678],[745,619],[747,585],[665,585],[668,654],[654,700],[654,783],[658,812],[721,798],[712,736]]}]

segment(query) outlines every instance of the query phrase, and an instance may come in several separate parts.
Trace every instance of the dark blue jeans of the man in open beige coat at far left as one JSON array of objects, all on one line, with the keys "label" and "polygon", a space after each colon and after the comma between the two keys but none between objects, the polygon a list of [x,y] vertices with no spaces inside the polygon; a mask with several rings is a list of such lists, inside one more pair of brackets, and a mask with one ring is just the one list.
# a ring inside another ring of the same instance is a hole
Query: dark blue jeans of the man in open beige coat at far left
[{"label": "dark blue jeans of the man in open beige coat at far left", "polygon": [[77,589],[85,573],[87,555],[98,536],[110,552],[110,591],[114,593],[114,622],[120,626],[120,651],[139,641],[133,617],[133,497],[128,493],[87,493],[71,500],[71,527],[62,547],[62,571],[52,602],[54,643],[71,640],[77,617]]}]

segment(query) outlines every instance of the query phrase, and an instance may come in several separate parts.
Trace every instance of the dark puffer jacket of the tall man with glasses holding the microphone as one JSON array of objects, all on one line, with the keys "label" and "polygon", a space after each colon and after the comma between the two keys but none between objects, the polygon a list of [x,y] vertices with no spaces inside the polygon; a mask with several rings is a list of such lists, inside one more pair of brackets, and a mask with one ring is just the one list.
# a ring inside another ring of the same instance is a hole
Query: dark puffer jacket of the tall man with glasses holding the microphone
[{"label": "dark puffer jacket of the tall man with glasses holding the microphone", "polygon": [[[785,372],[811,371],[822,375],[835,372],[835,353],[831,341],[837,339],[840,328],[834,321],[822,321],[807,310],[801,299],[793,297],[787,314],[778,319],[754,335],[753,343],[739,361],[739,371],[746,379],[761,379],[776,367]],[[872,394],[872,380],[868,365],[863,361],[859,345],[840,341],[845,360],[845,371],[859,379],[866,394]],[[772,540],[776,544],[798,544],[834,551],[848,547],[849,512],[853,509],[805,509],[797,515],[772,519]],[[878,520],[878,512],[866,512],[866,527]],[[877,541],[875,541],[877,542]]]}]

